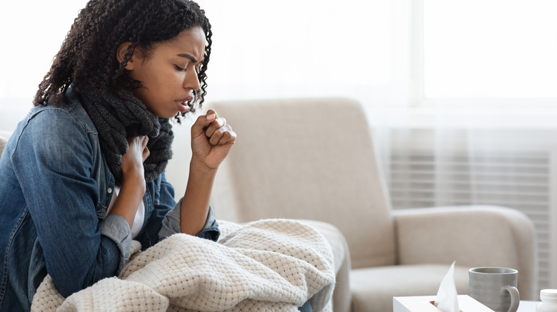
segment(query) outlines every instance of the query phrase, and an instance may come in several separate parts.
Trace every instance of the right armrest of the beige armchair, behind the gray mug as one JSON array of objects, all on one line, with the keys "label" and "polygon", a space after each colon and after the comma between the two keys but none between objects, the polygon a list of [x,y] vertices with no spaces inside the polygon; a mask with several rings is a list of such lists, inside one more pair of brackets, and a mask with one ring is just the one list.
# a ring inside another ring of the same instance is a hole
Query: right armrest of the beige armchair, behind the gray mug
[{"label": "right armrest of the beige armchair, behind the gray mug", "polygon": [[460,206],[394,210],[399,264],[506,266],[518,269],[521,299],[537,298],[533,222],[516,209]]}]

